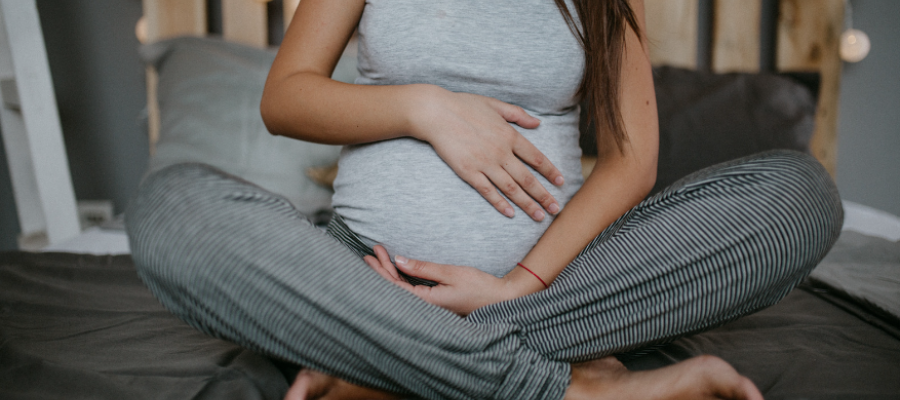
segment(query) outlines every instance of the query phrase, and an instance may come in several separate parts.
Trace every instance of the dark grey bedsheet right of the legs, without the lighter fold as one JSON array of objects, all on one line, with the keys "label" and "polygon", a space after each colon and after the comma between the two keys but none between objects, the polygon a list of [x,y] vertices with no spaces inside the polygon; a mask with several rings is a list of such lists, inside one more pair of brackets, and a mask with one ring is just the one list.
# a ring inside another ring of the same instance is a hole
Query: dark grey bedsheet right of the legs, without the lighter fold
[{"label": "dark grey bedsheet right of the legs, without the lighter fold", "polygon": [[713,354],[753,380],[769,400],[900,398],[900,337],[854,315],[865,311],[853,304],[829,297],[803,286],[774,307],[626,365],[647,369]]}]

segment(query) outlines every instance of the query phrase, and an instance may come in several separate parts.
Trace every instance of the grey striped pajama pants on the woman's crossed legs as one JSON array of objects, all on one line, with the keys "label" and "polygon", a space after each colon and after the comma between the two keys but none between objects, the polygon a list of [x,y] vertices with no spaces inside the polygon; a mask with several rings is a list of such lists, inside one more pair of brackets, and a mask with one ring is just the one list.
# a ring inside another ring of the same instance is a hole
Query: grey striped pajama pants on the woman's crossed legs
[{"label": "grey striped pajama pants on the woman's crossed legs", "polygon": [[382,279],[284,198],[200,164],[148,176],[126,214],[138,273],[194,327],[350,382],[433,399],[559,399],[569,363],[783,298],[842,208],[812,157],[694,173],[598,236],[549,289],[461,318]]}]

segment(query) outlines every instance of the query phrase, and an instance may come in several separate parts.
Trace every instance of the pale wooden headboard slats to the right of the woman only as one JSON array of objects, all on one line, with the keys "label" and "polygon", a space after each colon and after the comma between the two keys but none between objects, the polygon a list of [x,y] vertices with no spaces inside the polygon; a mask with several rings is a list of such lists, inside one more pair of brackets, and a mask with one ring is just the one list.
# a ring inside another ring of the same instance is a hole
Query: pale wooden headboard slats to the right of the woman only
[{"label": "pale wooden headboard slats to the right of the woman only", "polygon": [[[650,58],[654,65],[697,68],[699,0],[645,0]],[[710,69],[759,72],[762,0],[715,0]],[[841,79],[838,45],[844,0],[780,0],[775,70],[816,72],[821,83],[810,149],[832,176],[837,160],[837,111]]]}]

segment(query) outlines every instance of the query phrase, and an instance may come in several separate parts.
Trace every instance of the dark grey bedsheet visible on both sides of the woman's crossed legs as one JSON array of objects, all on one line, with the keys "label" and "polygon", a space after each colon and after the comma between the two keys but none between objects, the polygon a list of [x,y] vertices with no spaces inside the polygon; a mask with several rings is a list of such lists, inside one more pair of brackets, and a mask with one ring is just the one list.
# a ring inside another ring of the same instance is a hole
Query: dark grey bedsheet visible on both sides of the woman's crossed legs
[{"label": "dark grey bedsheet visible on both sides of the woman's crossed legs", "polygon": [[[846,236],[824,263],[850,257],[859,273],[867,255],[890,264],[890,249],[900,255],[900,244]],[[767,399],[900,399],[900,326],[869,305],[808,282],[627,364],[715,354]],[[0,399],[277,399],[287,382],[270,360],[166,312],[128,256],[0,253]]]}]

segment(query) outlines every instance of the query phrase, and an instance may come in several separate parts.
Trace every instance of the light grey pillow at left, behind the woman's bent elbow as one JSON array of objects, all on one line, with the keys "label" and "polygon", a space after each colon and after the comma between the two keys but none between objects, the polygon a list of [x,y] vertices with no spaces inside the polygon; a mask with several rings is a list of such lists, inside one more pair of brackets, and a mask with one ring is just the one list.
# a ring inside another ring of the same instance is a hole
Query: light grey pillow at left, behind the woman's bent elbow
[{"label": "light grey pillow at left, behind the woman's bent elbow", "polygon": [[340,147],[273,136],[260,117],[274,50],[181,37],[140,54],[159,73],[160,135],[150,172],[200,162],[283,195],[305,214],[330,207],[331,191],[305,172],[333,164]]}]

